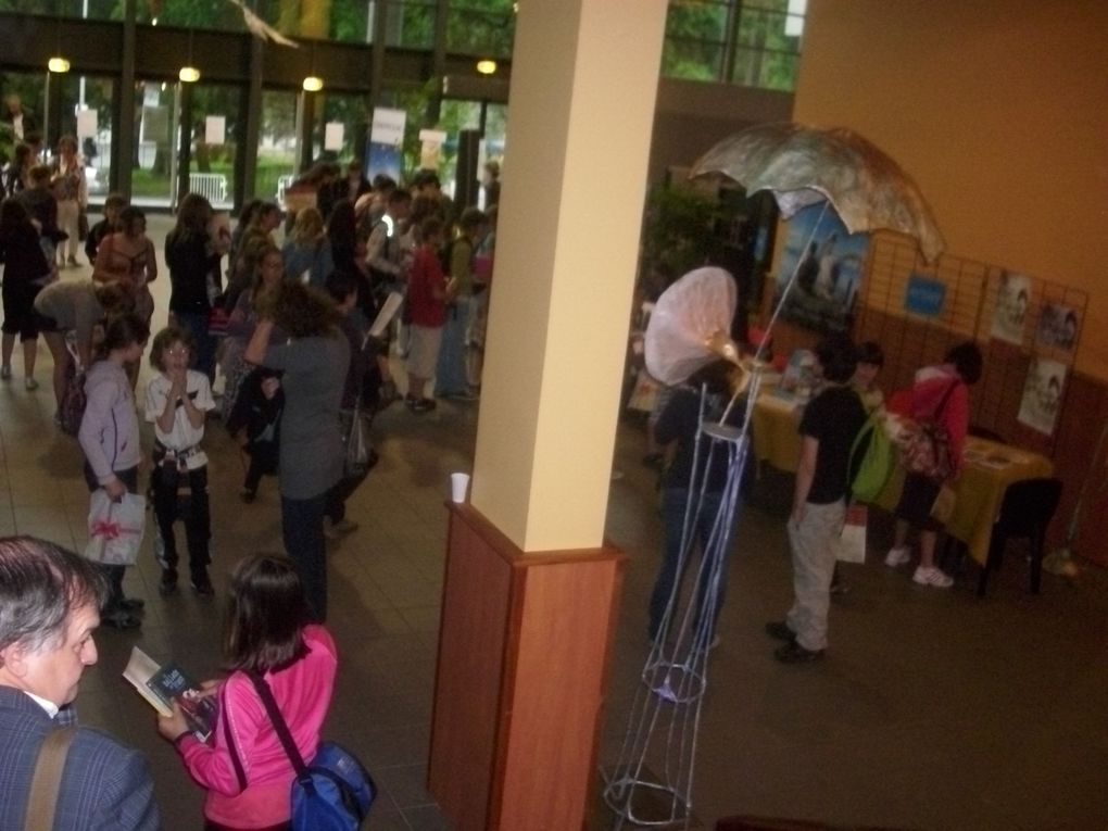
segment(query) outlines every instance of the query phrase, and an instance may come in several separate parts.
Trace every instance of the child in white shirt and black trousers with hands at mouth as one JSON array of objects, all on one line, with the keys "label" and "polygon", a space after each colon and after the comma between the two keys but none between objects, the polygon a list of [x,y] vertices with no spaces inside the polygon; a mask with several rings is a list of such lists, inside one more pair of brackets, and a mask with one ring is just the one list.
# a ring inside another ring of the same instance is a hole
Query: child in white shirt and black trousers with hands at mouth
[{"label": "child in white shirt and black trousers with hands at mouth", "polygon": [[212,537],[207,455],[201,449],[204,420],[215,409],[215,399],[207,376],[188,369],[193,350],[192,334],[177,326],[162,329],[150,350],[150,365],[158,370],[146,387],[146,421],[154,424],[151,489],[162,538],[158,592],[163,596],[177,591],[177,541],[173,524],[181,514],[193,588],[199,595],[215,594],[207,573]]}]

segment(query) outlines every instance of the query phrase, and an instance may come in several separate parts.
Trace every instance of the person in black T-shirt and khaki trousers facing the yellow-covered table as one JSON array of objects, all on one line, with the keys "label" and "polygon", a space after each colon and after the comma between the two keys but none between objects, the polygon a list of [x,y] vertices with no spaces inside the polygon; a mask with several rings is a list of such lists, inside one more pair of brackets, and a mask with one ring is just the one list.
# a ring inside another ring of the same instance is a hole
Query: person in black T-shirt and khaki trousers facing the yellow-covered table
[{"label": "person in black T-shirt and khaki trousers facing the yellow-covered table", "polygon": [[800,464],[789,517],[792,550],[792,608],[766,632],[784,640],[773,657],[786,664],[823,657],[828,645],[828,608],[834,572],[833,542],[847,516],[850,449],[865,423],[865,410],[850,389],[858,368],[854,345],[831,337],[815,348],[822,391],[804,408],[800,421]]}]

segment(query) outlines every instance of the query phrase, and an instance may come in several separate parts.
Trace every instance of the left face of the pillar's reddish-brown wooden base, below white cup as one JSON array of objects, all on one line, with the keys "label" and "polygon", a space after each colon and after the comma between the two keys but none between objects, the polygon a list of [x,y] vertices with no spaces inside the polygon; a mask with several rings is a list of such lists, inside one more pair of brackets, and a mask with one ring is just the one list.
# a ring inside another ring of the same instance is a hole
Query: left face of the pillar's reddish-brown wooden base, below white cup
[{"label": "left face of the pillar's reddish-brown wooden base, below white cup", "polygon": [[459,831],[488,822],[512,568],[452,514],[428,789]]}]

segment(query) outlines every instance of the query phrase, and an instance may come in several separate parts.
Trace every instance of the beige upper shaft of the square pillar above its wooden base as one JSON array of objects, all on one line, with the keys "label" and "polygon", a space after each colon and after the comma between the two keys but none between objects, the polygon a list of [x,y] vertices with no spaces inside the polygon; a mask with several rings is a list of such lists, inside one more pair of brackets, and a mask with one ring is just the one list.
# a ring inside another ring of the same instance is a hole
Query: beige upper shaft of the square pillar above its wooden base
[{"label": "beige upper shaft of the square pillar above its wooden base", "polygon": [[524,552],[603,541],[667,0],[526,0],[472,501]]}]

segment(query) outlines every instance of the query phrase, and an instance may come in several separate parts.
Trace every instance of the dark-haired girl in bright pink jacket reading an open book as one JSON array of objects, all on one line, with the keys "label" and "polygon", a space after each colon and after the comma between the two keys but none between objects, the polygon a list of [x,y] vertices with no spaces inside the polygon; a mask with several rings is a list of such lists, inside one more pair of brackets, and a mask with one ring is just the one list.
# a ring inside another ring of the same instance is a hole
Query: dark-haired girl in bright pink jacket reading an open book
[{"label": "dark-haired girl in bright pink jacket reading an open book", "polygon": [[232,575],[224,655],[230,676],[205,687],[219,699],[209,743],[199,741],[175,704],[158,718],[189,776],[207,789],[205,829],[287,829],[295,773],[249,674],[273,689],[300,756],[311,759],[335,689],[338,657],[322,626],[308,624],[293,562],[255,554]]}]

